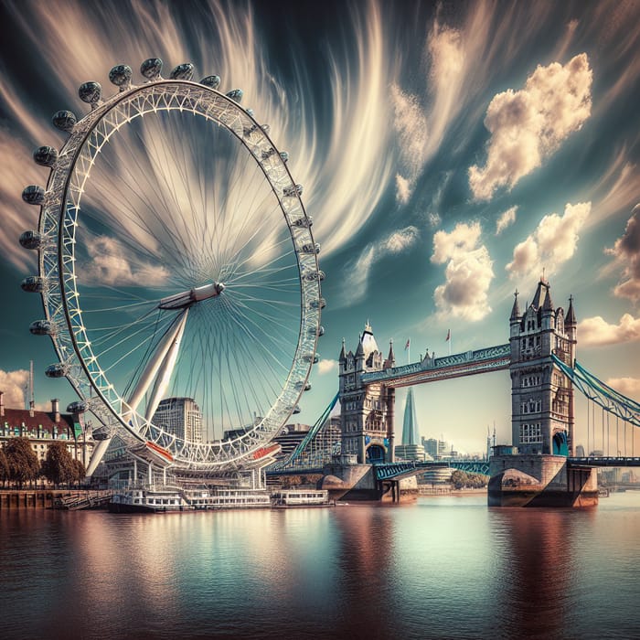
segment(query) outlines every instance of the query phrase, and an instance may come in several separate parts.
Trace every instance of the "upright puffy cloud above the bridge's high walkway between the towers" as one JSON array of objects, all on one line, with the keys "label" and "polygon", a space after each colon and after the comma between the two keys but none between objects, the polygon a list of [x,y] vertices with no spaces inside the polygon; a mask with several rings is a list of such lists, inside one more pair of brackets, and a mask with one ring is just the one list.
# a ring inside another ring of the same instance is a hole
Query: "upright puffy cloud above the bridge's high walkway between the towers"
[{"label": "upright puffy cloud above the bridge's high walkway between the towers", "polygon": [[480,224],[458,223],[453,231],[433,236],[432,262],[447,263],[445,283],[433,292],[438,313],[465,320],[481,320],[490,311],[487,292],[494,278],[493,262],[484,245],[478,246]]}]

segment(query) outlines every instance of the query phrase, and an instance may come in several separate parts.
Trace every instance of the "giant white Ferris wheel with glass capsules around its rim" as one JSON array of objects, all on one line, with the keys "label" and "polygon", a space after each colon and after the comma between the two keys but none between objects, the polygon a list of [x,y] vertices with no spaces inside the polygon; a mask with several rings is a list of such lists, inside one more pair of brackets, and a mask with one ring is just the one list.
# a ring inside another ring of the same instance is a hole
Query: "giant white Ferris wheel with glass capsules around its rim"
[{"label": "giant white Ferris wheel with glass capsules around its rim", "polygon": [[[323,272],[312,220],[288,156],[242,91],[218,76],[193,81],[181,64],[168,79],[145,60],[143,81],[114,67],[120,91],[86,82],[91,112],[53,116],[67,134],[42,146],[46,187],[23,199],[40,208],[20,243],[38,253],[48,335],[105,442],[194,471],[258,460],[309,389],[317,361]],[[189,429],[165,411],[188,406]]]}]

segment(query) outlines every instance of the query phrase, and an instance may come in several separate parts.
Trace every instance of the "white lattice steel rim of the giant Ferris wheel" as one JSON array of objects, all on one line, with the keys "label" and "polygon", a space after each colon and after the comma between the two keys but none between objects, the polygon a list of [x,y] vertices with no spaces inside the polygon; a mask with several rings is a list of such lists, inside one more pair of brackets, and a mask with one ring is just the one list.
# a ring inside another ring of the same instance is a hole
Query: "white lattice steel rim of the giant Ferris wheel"
[{"label": "white lattice steel rim of the giant Ferris wheel", "polygon": [[[288,184],[286,185],[286,187],[295,187],[293,183],[293,177],[289,173],[288,167],[284,165],[282,159],[279,157],[277,148],[272,143],[271,139],[267,136],[266,132],[264,132],[261,129],[260,125],[255,120],[253,120],[251,115],[248,114],[245,110],[243,110],[236,102],[232,101],[228,96],[220,93],[219,91],[216,91],[211,87],[206,87],[201,84],[198,84],[197,82],[191,82],[189,80],[156,80],[156,81],[146,83],[139,87],[132,87],[129,91],[121,91],[120,94],[115,94],[115,96],[113,96],[112,99],[110,99],[109,101],[106,101],[101,106],[98,106],[97,109],[95,109],[93,112],[89,113],[87,116],[82,118],[77,124],[77,127],[74,128],[74,132],[71,133],[71,136],[69,136],[69,140],[65,144],[63,144],[62,150],[66,151],[67,153],[61,154],[61,155],[69,155],[69,143],[73,139],[74,134],[78,136],[76,139],[75,147],[73,147],[72,157],[68,162],[68,166],[65,167],[64,164],[61,164],[59,167],[54,166],[54,168],[51,171],[51,175],[49,176],[48,192],[52,190],[49,187],[55,186],[56,181],[59,180],[59,173],[63,172],[66,174],[66,180],[64,183],[64,187],[60,193],[61,197],[59,198],[59,202],[56,201],[56,198],[49,199],[48,204],[43,205],[41,209],[40,220],[38,222],[38,230],[44,236],[47,236],[48,233],[50,233],[50,229],[48,229],[48,219],[47,219],[46,211],[50,211],[51,209],[58,208],[59,210],[59,221],[58,221],[59,242],[58,242],[57,250],[58,250],[58,268],[59,268],[59,272],[58,272],[59,301],[55,299],[56,293],[54,293],[53,295],[51,294],[51,289],[55,288],[55,285],[51,288],[45,289],[42,292],[42,300],[43,300],[43,305],[45,307],[45,313],[47,315],[48,320],[51,320],[56,315],[56,312],[52,313],[52,306],[59,305],[59,302],[62,303],[62,306],[64,308],[66,327],[68,329],[68,336],[65,336],[65,337],[70,338],[70,343],[71,343],[71,346],[73,347],[76,361],[74,361],[73,355],[69,353],[69,345],[64,344],[64,340],[61,340],[60,336],[52,336],[54,347],[56,348],[56,352],[59,356],[60,363],[66,363],[69,366],[69,370],[65,373],[65,376],[69,379],[72,386],[79,393],[80,398],[82,400],[91,400],[91,394],[89,397],[87,396],[86,390],[82,384],[82,380],[79,379],[77,373],[71,374],[70,372],[71,368],[75,367],[77,369],[78,365],[80,365],[80,368],[84,373],[84,377],[85,377],[84,381],[89,383],[89,389],[94,390],[98,394],[104,407],[108,408],[112,412],[112,417],[114,417],[116,421],[118,421],[119,427],[120,427],[119,432],[122,432],[124,429],[126,432],[128,432],[129,435],[133,436],[134,439],[137,439],[140,442],[151,441],[154,443],[157,443],[157,441],[161,439],[161,436],[163,435],[162,430],[159,430],[158,432],[157,429],[155,430],[153,429],[154,425],[147,425],[148,427],[151,427],[151,428],[147,428],[146,432],[144,432],[143,434],[139,428],[134,429],[133,425],[127,424],[127,422],[123,420],[122,404],[120,409],[116,410],[116,408],[114,407],[113,398],[110,399],[106,397],[106,394],[104,393],[104,389],[101,386],[96,384],[94,379],[96,372],[88,368],[88,365],[87,365],[88,359],[86,354],[87,353],[91,354],[90,357],[93,357],[94,361],[96,361],[96,358],[94,357],[91,349],[89,351],[86,351],[86,347],[80,347],[79,345],[78,336],[80,333],[84,331],[84,328],[81,327],[81,331],[80,330],[74,331],[72,328],[73,327],[73,321],[71,317],[72,312],[69,309],[69,296],[66,294],[67,290],[66,290],[66,281],[65,281],[65,275],[67,273],[65,261],[67,259],[67,256],[64,254],[64,244],[63,244],[61,229],[63,229],[66,223],[66,216],[68,215],[68,212],[69,212],[69,207],[68,207],[69,182],[71,180],[71,176],[74,174],[75,169],[80,161],[82,151],[87,149],[86,143],[91,133],[94,132],[98,127],[98,125],[101,122],[104,122],[107,115],[113,112],[118,106],[121,106],[123,104],[132,104],[135,97],[139,95],[154,94],[154,93],[164,94],[164,91],[162,90],[166,88],[174,89],[176,90],[176,92],[179,92],[181,89],[186,89],[186,90],[196,89],[200,95],[206,95],[208,93],[216,101],[222,101],[223,103],[225,103],[226,108],[229,110],[229,112],[231,112],[236,117],[237,122],[239,123],[249,122],[251,123],[250,124],[251,127],[256,127],[251,132],[251,134],[253,135],[254,138],[258,138],[259,140],[261,140],[263,145],[261,146],[259,144],[255,144],[255,140],[253,141],[252,145],[254,147],[261,147],[261,148],[263,148],[265,145],[268,145],[268,147],[273,150],[272,153],[274,155],[278,155],[278,160],[282,163],[282,169],[284,172],[283,175],[286,176],[288,180]],[[167,106],[165,110],[161,109],[161,111],[171,111],[171,108]],[[193,112],[194,114],[196,114],[195,108]],[[92,118],[90,119],[91,115],[92,115]],[[140,113],[140,115],[143,115],[143,113]],[[202,115],[202,114],[198,113],[198,115]],[[233,126],[231,126],[231,124],[224,122],[224,120],[222,119],[217,119],[215,117],[208,117],[208,116],[205,116],[205,117],[207,117],[208,120],[212,120],[213,122],[216,122],[224,126],[227,129],[227,131],[229,131],[229,133],[232,133],[236,137],[236,139],[240,142],[240,144],[242,144],[247,149],[247,151],[253,156],[256,163],[260,165],[261,171],[265,176],[265,179],[267,180],[270,187],[272,188],[273,195],[278,200],[279,206],[283,212],[283,218],[286,222],[289,235],[291,236],[291,240],[293,241],[293,246],[295,248],[297,272],[298,272],[298,278],[300,283],[300,297],[301,297],[301,300],[300,300],[301,315],[300,315],[300,327],[298,332],[298,342],[295,347],[293,362],[290,368],[289,376],[285,381],[281,394],[273,402],[273,405],[272,405],[272,410],[273,410],[274,407],[278,407],[279,402],[282,404],[281,399],[284,398],[285,391],[292,388],[293,385],[295,385],[296,383],[300,385],[300,383],[302,382],[302,389],[299,392],[297,392],[297,395],[296,395],[296,401],[297,399],[299,399],[300,395],[302,394],[302,390],[304,389],[304,385],[308,379],[308,376],[314,361],[315,347],[316,347],[318,329],[319,329],[319,318],[320,318],[320,300],[321,300],[320,287],[319,287],[319,283],[308,282],[303,277],[303,258],[307,266],[310,261],[313,261],[315,272],[318,272],[317,257],[315,253],[313,254],[313,258],[312,258],[311,256],[303,255],[301,251],[299,251],[301,242],[303,241],[304,242],[310,241],[312,246],[315,245],[313,240],[313,234],[311,233],[310,225],[304,225],[301,228],[293,227],[293,224],[292,224],[293,215],[298,215],[299,216],[298,219],[308,220],[308,217],[304,210],[304,205],[302,203],[302,200],[299,198],[298,195],[295,195],[294,206],[293,207],[289,206],[286,208],[284,207],[283,205],[284,187],[281,186],[280,192],[279,192],[278,188],[276,188],[276,186],[274,185],[274,182],[272,181],[272,177],[269,175],[268,171],[265,169],[265,166],[260,162],[256,153],[253,151],[253,149],[251,149],[250,144],[245,139],[245,136],[243,134],[240,134],[240,130],[237,128],[237,126],[234,128]],[[87,126],[87,123],[88,123],[88,126]],[[121,123],[118,127],[113,127],[112,132],[120,128],[120,126],[122,125],[123,124]],[[244,133],[244,131],[242,131],[241,133]],[[96,154],[97,153],[98,152],[96,152]],[[281,171],[281,174],[282,174],[282,171]],[[303,229],[303,230],[299,232],[300,229]],[[296,242],[297,242],[297,245],[296,245]],[[46,250],[41,251],[38,272],[40,276],[44,279],[47,279],[48,274],[50,273],[50,271],[48,272],[48,270],[45,267],[45,262],[48,260],[50,260],[50,255],[48,254],[48,252]],[[72,264],[72,261],[70,263]],[[74,279],[73,276],[74,276],[74,272],[71,272],[72,280]],[[75,291],[75,299],[79,299],[80,295],[78,294],[77,289],[74,291]],[[80,306],[77,308],[77,310],[74,309],[74,311],[80,314],[80,318],[81,318]],[[311,329],[311,328],[314,329],[314,336],[313,338],[310,339],[308,337],[308,335],[310,334],[308,329]],[[86,340],[86,342],[89,342],[89,341]],[[311,354],[311,357],[309,357],[310,354]],[[296,375],[293,376],[293,371],[296,368],[296,365],[300,366],[303,363],[304,357],[308,358],[308,363],[304,366],[304,369],[305,369],[304,377],[302,377],[301,379],[301,374],[297,372]],[[292,379],[293,377],[295,377],[296,379],[293,380]],[[105,377],[105,380],[108,381],[106,377]],[[123,399],[120,398],[120,400],[123,400]],[[95,405],[96,405],[95,401],[93,402],[93,404],[95,408]],[[98,407],[98,410],[100,410],[100,407]],[[293,406],[288,411],[286,418],[289,417],[289,415],[291,414],[291,411],[293,411]],[[281,416],[283,415],[282,409],[280,411],[280,415]],[[184,443],[184,447],[186,447],[187,449],[195,449],[196,451],[195,453],[185,454],[185,448],[183,447],[182,452],[178,453],[176,456],[176,462],[179,462],[180,464],[186,464],[187,468],[197,468],[197,467],[211,468],[211,467],[218,467],[218,466],[222,466],[230,463],[238,463],[240,460],[242,460],[243,458],[246,458],[248,455],[250,455],[251,453],[255,452],[257,449],[259,449],[262,444],[269,442],[269,440],[271,440],[272,438],[272,435],[274,434],[274,431],[276,431],[277,428],[281,426],[281,425],[277,425],[274,429],[273,424],[269,423],[269,419],[270,419],[270,415],[267,415],[259,425],[257,425],[254,429],[251,430],[251,432],[247,432],[245,435],[239,436],[233,440],[221,441],[220,443],[215,443],[215,444],[186,442]],[[266,437],[264,435],[265,432],[266,432],[266,436],[270,436],[270,437]],[[229,449],[229,451],[227,451],[227,449]],[[217,455],[212,455],[212,453],[216,453],[216,452],[217,452]]]}]

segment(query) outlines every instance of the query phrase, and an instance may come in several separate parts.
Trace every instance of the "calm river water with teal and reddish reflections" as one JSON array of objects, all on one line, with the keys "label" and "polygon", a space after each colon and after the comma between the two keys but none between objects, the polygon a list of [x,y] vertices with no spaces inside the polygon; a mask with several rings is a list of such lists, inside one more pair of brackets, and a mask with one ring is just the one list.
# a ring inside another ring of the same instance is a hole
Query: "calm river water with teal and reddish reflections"
[{"label": "calm river water with teal and reddish reflections", "polygon": [[589,510],[0,512],[3,638],[640,638],[640,492]]}]

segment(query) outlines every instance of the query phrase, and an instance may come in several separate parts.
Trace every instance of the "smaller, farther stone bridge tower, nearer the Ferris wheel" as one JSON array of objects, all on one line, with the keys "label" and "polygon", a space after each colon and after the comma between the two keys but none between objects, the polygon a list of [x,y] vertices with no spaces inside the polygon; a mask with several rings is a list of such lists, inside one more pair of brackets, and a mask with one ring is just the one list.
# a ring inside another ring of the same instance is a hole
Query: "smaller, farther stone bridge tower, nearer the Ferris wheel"
[{"label": "smaller, farther stone bridge tower, nearer the Ferris wheel", "polygon": [[359,336],[356,353],[345,348],[339,356],[342,453],[354,454],[359,464],[393,461],[395,389],[381,382],[363,384],[362,375],[393,367],[393,343],[385,359],[371,325]]}]

